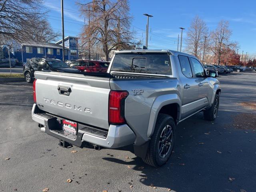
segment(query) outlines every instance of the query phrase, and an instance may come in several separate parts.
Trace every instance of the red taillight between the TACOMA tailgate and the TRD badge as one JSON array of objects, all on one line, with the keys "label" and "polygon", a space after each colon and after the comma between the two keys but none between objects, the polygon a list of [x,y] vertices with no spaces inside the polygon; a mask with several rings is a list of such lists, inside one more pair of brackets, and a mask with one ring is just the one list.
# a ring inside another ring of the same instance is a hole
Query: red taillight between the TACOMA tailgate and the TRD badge
[{"label": "red taillight between the TACOMA tailgate and the TRD badge", "polygon": [[108,122],[110,124],[124,124],[124,100],[128,96],[127,91],[114,91],[109,93]]}]

